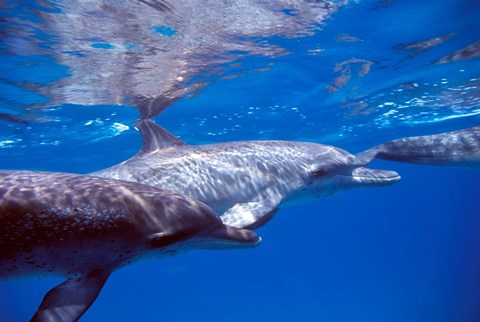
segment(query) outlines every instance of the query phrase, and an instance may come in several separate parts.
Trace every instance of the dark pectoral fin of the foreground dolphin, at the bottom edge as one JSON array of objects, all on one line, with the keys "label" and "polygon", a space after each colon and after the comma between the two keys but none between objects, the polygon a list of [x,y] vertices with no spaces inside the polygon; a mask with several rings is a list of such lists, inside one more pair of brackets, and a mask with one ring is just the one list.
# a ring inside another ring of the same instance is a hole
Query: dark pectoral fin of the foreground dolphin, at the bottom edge
[{"label": "dark pectoral fin of the foreground dolphin, at the bottom edge", "polygon": [[78,278],[69,278],[48,291],[31,322],[77,321],[92,305],[110,272],[91,272]]}]

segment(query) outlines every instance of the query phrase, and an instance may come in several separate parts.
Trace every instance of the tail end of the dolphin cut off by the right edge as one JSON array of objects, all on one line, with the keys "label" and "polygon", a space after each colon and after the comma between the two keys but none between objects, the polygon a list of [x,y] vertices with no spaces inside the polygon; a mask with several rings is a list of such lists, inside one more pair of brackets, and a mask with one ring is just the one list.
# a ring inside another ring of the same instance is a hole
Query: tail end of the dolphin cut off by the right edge
[{"label": "tail end of the dolphin cut off by the right edge", "polygon": [[429,165],[480,168],[480,126],[390,141],[357,154],[365,164],[384,159]]}]

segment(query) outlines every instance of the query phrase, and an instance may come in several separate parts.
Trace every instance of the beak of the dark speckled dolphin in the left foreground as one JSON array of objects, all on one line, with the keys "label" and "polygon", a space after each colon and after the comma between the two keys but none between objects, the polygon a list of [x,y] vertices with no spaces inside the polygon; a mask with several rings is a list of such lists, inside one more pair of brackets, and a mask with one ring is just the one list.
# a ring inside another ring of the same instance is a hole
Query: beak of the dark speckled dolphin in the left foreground
[{"label": "beak of the dark speckled dolphin in the left foreground", "polygon": [[213,242],[211,248],[215,249],[254,247],[262,241],[262,238],[251,230],[227,225],[222,225],[222,227],[210,231],[208,233],[208,239]]}]

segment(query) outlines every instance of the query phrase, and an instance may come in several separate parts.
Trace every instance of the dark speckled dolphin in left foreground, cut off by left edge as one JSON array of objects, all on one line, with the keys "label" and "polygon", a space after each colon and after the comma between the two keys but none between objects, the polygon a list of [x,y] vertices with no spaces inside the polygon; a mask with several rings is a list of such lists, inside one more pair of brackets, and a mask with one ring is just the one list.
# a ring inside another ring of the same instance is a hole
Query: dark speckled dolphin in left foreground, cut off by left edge
[{"label": "dark speckled dolphin in left foreground, cut off by left edge", "polygon": [[255,246],[191,198],[86,175],[0,171],[0,278],[56,274],[31,321],[77,321],[109,275],[144,257]]}]

